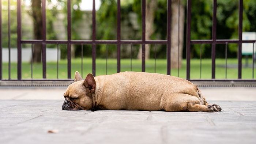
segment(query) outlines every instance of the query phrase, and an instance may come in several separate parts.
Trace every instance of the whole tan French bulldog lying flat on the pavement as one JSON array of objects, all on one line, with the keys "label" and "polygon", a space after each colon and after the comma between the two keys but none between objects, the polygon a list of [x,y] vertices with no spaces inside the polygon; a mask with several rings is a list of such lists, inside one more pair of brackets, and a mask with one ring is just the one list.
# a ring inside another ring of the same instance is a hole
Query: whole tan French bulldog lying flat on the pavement
[{"label": "whole tan French bulldog lying flat on the pavement", "polygon": [[63,110],[221,111],[188,80],[145,72],[89,73],[85,80],[76,72],[64,98]]}]

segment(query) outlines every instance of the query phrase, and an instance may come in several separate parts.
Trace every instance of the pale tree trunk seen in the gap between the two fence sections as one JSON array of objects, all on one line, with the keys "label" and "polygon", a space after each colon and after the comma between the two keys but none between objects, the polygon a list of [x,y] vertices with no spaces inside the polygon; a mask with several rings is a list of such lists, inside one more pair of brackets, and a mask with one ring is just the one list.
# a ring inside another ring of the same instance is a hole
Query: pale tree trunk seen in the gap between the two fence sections
[{"label": "pale tree trunk seen in the gap between the two fence sections", "polygon": [[[172,0],[171,68],[181,68],[182,65],[184,12],[184,5],[180,4],[180,17],[178,17],[178,0]],[[179,23],[178,19],[180,19]]]}]

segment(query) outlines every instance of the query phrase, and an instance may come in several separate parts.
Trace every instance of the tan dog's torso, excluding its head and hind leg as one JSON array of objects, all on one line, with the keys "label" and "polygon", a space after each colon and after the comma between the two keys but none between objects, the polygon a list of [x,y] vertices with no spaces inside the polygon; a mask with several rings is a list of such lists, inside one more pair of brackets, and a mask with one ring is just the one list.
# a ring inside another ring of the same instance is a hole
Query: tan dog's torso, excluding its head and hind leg
[{"label": "tan dog's torso, excluding its head and hind leg", "polygon": [[[197,86],[179,77],[158,73],[120,72],[94,77],[100,109],[162,110],[161,99],[174,93],[199,98]],[[108,105],[106,105],[108,103]]]}]

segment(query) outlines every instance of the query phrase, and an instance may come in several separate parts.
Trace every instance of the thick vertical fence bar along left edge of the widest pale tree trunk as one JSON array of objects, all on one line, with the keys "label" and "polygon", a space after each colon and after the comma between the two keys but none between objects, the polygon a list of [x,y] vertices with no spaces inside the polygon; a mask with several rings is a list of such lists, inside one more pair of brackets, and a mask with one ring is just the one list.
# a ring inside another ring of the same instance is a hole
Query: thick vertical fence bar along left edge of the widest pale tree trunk
[{"label": "thick vertical fence bar along left edge of the widest pale tree trunk", "polygon": [[171,75],[171,19],[172,1],[167,1],[167,75]]}]

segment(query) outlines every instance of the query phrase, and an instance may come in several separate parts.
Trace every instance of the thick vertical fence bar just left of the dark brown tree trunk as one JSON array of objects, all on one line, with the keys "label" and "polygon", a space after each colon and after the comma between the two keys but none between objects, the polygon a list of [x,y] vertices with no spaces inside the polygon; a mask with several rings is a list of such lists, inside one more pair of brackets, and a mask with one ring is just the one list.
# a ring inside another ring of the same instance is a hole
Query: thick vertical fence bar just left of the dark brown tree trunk
[{"label": "thick vertical fence bar just left of the dark brown tree trunk", "polygon": [[21,2],[17,0],[17,78],[21,80]]}]

